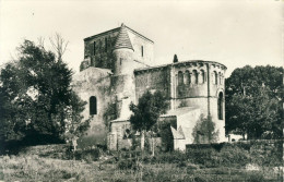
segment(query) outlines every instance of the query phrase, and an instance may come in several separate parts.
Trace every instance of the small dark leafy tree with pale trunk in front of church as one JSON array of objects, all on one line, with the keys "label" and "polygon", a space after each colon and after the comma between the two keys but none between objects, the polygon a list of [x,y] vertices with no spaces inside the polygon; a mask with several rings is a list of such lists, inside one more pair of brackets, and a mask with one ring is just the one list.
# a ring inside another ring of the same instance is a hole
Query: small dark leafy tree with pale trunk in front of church
[{"label": "small dark leafy tree with pale trunk in front of church", "polygon": [[150,131],[157,122],[158,117],[166,112],[168,104],[161,92],[151,94],[145,92],[139,99],[139,104],[130,104],[130,110],[133,112],[130,117],[130,123],[133,130],[141,133],[141,150],[144,150],[145,132]]}]

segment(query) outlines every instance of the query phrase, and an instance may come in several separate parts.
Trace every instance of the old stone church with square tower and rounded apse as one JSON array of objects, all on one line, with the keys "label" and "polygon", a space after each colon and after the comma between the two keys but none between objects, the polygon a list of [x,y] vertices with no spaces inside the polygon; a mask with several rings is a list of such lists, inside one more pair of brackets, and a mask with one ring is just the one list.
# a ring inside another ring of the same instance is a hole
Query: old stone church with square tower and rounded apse
[{"label": "old stone church with square tower and rounded apse", "polygon": [[193,143],[192,130],[201,114],[211,114],[225,141],[224,74],[226,66],[214,61],[189,60],[152,65],[154,41],[122,24],[84,39],[84,60],[73,77],[73,89],[87,102],[83,116],[92,118],[79,146],[107,145],[123,148],[131,130],[130,102],[146,90],[162,92],[169,108],[159,120],[174,122],[174,148]]}]

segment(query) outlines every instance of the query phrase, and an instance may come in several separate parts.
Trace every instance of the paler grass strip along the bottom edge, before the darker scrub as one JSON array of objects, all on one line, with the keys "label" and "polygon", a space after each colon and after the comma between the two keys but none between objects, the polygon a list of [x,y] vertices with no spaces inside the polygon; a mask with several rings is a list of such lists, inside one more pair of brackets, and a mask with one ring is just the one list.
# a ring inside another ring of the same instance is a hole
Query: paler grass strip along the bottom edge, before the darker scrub
[{"label": "paler grass strip along the bottom edge, before the darker scrub", "polygon": [[23,155],[1,156],[0,163],[2,181],[281,181],[280,173],[269,167],[248,171],[230,167],[204,168],[189,161],[180,165],[121,159],[109,163]]}]

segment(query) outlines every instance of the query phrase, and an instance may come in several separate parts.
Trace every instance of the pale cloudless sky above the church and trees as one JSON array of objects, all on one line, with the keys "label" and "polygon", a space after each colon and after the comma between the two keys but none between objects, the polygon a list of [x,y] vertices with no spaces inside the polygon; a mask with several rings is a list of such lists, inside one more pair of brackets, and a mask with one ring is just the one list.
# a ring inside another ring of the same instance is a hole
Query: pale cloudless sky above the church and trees
[{"label": "pale cloudless sky above the church and trees", "polygon": [[283,0],[92,1],[0,0],[0,65],[16,58],[24,39],[59,33],[69,41],[63,60],[74,72],[85,37],[125,23],[155,43],[154,64],[216,61],[226,77],[247,64],[283,66]]}]

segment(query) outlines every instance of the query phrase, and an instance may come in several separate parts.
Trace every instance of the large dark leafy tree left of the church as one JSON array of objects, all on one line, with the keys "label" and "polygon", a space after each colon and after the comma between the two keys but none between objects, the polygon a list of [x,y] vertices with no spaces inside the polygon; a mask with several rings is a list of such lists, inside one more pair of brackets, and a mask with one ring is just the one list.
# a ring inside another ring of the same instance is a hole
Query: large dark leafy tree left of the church
[{"label": "large dark leafy tree left of the church", "polygon": [[72,71],[33,41],[25,40],[17,50],[19,61],[0,74],[1,139],[58,143],[67,132],[80,135],[88,120],[82,121],[85,102],[71,89]]}]

